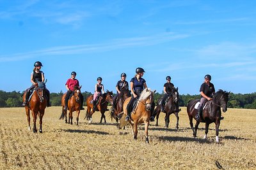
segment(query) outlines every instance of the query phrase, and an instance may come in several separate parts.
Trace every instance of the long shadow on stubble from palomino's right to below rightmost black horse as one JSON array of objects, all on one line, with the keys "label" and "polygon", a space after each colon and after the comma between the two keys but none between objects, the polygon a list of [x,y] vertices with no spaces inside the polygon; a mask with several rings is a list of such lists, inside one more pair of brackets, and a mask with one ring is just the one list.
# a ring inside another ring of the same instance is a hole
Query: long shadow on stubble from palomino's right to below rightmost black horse
[{"label": "long shadow on stubble from palomino's right to below rightmost black horse", "polygon": [[198,143],[212,143],[209,140],[201,139],[201,138],[189,138],[189,137],[177,137],[177,136],[157,136],[161,141],[195,141]]}]

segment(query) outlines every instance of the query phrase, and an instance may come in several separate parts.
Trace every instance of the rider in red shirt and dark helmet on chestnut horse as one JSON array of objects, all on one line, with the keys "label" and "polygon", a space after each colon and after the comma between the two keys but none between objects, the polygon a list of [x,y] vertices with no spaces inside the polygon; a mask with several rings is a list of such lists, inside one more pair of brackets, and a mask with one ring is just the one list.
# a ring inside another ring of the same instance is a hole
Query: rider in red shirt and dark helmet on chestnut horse
[{"label": "rider in red shirt and dark helmet on chestnut horse", "polygon": [[[68,108],[68,98],[69,98],[70,94],[72,94],[72,92],[74,91],[75,86],[79,87],[79,81],[76,79],[76,72],[75,71],[72,71],[71,78],[68,78],[65,86],[66,86],[66,89],[67,89],[67,94],[65,96],[64,110],[67,110],[67,108]],[[81,87],[79,87],[79,89],[81,89]],[[79,97],[81,99],[80,110],[84,110],[84,108],[83,108],[84,97],[83,97],[82,93],[79,93],[79,94],[80,94]]]}]

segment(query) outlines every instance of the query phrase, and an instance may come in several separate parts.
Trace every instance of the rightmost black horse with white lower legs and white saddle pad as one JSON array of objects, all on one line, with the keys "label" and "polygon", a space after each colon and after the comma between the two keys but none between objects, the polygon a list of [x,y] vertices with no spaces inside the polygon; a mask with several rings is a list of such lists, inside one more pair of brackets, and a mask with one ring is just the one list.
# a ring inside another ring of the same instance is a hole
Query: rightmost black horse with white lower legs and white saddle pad
[{"label": "rightmost black horse with white lower legs and white saddle pad", "polygon": [[216,94],[212,97],[211,101],[207,101],[204,106],[204,110],[202,116],[200,115],[200,120],[196,121],[195,129],[193,127],[193,118],[195,118],[198,108],[195,107],[196,103],[200,102],[200,100],[195,99],[189,101],[187,106],[187,112],[189,117],[189,124],[193,131],[193,136],[196,137],[196,132],[198,129],[198,125],[200,122],[205,122],[205,135],[204,139],[207,138],[207,133],[209,129],[209,124],[215,123],[216,126],[216,143],[220,142],[219,139],[219,127],[220,127],[220,120],[221,120],[221,108],[223,112],[227,111],[227,103],[228,103],[228,94],[230,92],[226,92],[223,90],[218,90]]}]

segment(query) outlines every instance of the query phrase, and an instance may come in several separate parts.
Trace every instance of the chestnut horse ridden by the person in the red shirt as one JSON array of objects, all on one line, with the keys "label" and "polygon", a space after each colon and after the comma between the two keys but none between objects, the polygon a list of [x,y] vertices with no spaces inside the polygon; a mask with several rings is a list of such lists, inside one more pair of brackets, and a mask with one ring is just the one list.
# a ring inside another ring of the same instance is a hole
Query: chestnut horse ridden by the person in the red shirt
[{"label": "chestnut horse ridden by the person in the red shirt", "polygon": [[66,94],[63,94],[62,98],[61,98],[61,106],[62,106],[62,113],[60,116],[60,119],[63,119],[65,117],[65,123],[67,124],[73,124],[73,111],[76,111],[77,116],[76,116],[76,124],[77,126],[79,126],[78,124],[78,120],[79,120],[79,114],[80,114],[80,106],[81,106],[81,99],[80,99],[80,88],[79,87],[74,87],[74,92],[72,94],[72,96],[70,97],[70,99],[68,99],[68,121],[67,121],[67,110],[64,110],[65,107],[65,97]]}]

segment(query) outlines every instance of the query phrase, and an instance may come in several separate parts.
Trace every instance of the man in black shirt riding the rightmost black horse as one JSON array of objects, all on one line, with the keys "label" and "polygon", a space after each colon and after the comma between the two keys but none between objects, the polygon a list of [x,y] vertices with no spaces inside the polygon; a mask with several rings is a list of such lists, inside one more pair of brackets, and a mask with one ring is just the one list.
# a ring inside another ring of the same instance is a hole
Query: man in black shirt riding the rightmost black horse
[{"label": "man in black shirt riding the rightmost black horse", "polygon": [[203,111],[203,105],[205,101],[211,101],[212,96],[215,94],[215,89],[214,85],[210,82],[212,79],[211,75],[206,74],[204,76],[204,83],[202,83],[200,87],[200,94],[201,94],[201,99],[200,99],[200,104],[198,107],[198,113],[196,115],[196,120],[200,120],[200,113]]}]

